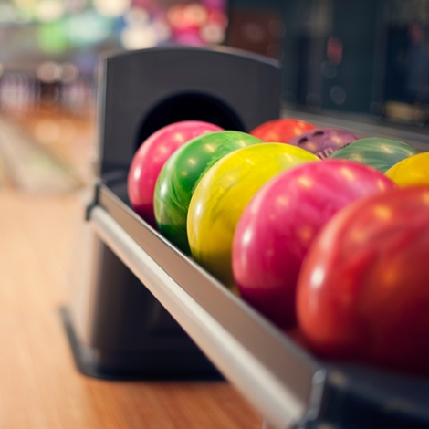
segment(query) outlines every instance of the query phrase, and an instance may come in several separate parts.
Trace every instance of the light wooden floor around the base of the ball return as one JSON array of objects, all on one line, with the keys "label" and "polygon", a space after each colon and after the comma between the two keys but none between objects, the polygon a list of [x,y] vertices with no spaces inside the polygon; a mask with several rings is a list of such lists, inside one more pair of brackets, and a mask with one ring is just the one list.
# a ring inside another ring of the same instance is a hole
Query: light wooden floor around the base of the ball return
[{"label": "light wooden floor around the base of the ball return", "polygon": [[81,218],[77,191],[0,187],[0,428],[259,428],[226,382],[106,382],[76,370],[58,309]]}]

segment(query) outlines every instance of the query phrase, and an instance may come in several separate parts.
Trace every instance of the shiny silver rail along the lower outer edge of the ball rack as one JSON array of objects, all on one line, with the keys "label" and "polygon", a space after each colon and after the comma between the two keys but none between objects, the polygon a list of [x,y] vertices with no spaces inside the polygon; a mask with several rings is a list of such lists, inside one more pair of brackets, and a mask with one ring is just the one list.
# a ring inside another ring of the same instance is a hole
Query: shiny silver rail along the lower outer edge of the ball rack
[{"label": "shiny silver rail along the lower outer edge of the ball rack", "polygon": [[[90,213],[94,231],[131,269],[198,344],[214,365],[261,413],[273,428],[294,427],[319,402],[317,386],[323,370],[315,373],[315,389],[308,400],[288,388],[271,368],[256,358],[209,311],[204,309],[124,229],[99,206]],[[305,382],[305,381],[303,381]],[[321,393],[321,392],[320,392]]]}]

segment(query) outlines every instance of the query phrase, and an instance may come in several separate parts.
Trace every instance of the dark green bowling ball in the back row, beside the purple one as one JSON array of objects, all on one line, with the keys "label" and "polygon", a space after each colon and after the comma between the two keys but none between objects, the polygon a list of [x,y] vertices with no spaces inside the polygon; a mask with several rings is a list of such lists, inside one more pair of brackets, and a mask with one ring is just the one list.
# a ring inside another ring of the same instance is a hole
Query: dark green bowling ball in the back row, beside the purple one
[{"label": "dark green bowling ball in the back row, beside the purple one", "polygon": [[384,173],[404,158],[419,153],[413,146],[384,137],[369,137],[352,141],[330,155],[330,159],[362,162]]}]

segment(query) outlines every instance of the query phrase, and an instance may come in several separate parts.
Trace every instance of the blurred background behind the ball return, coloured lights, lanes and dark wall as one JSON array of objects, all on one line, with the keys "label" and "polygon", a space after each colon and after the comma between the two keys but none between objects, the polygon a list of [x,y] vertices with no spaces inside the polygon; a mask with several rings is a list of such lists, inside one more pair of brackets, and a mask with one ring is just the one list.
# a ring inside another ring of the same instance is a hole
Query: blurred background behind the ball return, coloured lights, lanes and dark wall
[{"label": "blurred background behind the ball return, coloured lights, lanes and dark wall", "polygon": [[428,0],[0,0],[0,183],[88,183],[99,55],[172,43],[281,61],[284,116],[427,132]]}]

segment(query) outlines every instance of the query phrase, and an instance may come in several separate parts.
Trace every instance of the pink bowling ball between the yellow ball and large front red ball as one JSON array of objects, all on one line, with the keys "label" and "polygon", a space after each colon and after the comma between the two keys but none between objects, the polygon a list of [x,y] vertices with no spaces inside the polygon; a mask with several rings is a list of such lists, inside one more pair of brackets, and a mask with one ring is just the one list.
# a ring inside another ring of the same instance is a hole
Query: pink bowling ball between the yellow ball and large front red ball
[{"label": "pink bowling ball between the yellow ball and large front red ball", "polygon": [[319,230],[362,196],[396,187],[358,162],[309,162],[277,174],[235,229],[232,267],[240,295],[281,329],[296,324],[298,273]]}]

